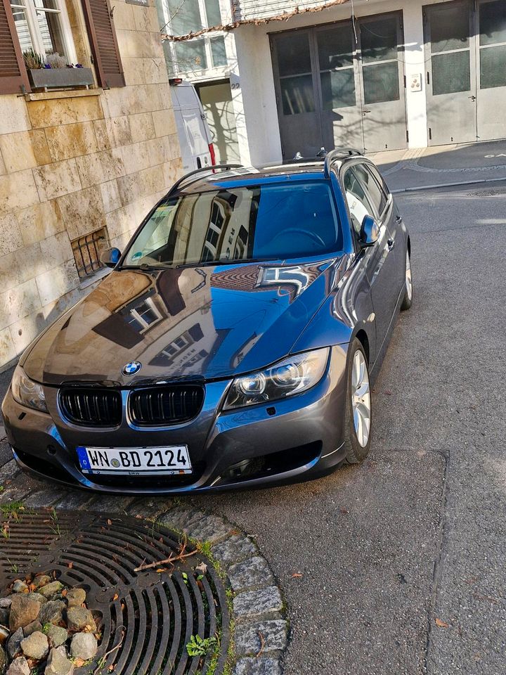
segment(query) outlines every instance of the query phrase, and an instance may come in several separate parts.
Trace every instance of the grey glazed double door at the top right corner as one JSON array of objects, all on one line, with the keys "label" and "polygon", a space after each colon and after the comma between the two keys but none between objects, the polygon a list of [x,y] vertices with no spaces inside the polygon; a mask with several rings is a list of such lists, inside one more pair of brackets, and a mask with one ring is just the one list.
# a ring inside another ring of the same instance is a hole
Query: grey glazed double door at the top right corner
[{"label": "grey glazed double door at the top right corner", "polygon": [[506,136],[506,0],[424,8],[429,145]]}]

